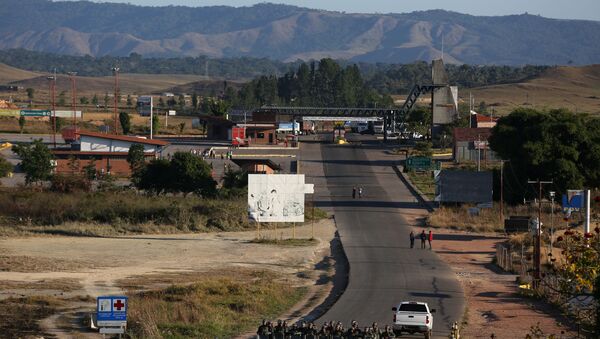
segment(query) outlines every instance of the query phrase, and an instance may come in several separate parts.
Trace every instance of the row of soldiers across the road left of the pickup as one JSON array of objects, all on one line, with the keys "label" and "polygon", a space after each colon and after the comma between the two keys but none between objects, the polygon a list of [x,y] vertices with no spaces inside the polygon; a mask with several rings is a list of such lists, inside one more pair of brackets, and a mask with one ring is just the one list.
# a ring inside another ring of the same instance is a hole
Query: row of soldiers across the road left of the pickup
[{"label": "row of soldiers across the road left of the pickup", "polygon": [[391,326],[382,328],[376,322],[370,326],[360,327],[352,321],[349,328],[341,322],[329,321],[319,328],[312,322],[302,321],[291,326],[287,321],[276,323],[263,320],[256,332],[260,339],[388,339],[396,338]]}]

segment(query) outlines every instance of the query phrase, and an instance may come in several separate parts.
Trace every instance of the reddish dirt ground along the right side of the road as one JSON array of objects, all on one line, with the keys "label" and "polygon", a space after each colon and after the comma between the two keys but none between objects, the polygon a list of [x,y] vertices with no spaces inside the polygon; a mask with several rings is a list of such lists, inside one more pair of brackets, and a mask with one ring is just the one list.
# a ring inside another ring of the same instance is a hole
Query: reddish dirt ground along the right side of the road
[{"label": "reddish dirt ground along the right side of the road", "polygon": [[[423,225],[423,210],[406,214],[411,225]],[[415,233],[423,228],[415,226]],[[428,231],[430,228],[425,228]],[[525,338],[539,323],[546,335],[575,338],[577,333],[566,325],[553,307],[518,295],[517,276],[492,264],[496,244],[506,240],[495,233],[468,233],[449,229],[431,229],[433,250],[456,273],[466,298],[466,314],[461,338]],[[417,233],[417,234],[418,234]]]}]

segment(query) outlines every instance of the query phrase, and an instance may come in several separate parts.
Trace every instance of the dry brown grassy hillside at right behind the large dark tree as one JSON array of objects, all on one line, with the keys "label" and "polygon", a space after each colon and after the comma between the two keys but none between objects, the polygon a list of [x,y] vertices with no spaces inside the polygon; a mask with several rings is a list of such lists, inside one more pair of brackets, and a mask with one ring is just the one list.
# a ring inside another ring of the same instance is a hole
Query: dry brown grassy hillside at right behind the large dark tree
[{"label": "dry brown grassy hillside at right behind the large dark tree", "polygon": [[[600,65],[556,67],[535,79],[471,90],[475,102],[485,101],[498,114],[516,107],[567,108],[600,114]],[[468,102],[468,91],[461,97]]]}]

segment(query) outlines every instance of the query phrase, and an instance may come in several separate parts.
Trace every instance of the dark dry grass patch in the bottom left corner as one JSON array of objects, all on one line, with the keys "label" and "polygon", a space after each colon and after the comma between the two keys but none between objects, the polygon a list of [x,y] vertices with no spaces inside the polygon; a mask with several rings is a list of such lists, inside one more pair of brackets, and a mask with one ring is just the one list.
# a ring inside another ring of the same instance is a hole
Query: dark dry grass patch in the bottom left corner
[{"label": "dark dry grass patch in the bottom left corner", "polygon": [[0,338],[46,336],[39,321],[55,314],[64,301],[51,296],[0,300]]}]

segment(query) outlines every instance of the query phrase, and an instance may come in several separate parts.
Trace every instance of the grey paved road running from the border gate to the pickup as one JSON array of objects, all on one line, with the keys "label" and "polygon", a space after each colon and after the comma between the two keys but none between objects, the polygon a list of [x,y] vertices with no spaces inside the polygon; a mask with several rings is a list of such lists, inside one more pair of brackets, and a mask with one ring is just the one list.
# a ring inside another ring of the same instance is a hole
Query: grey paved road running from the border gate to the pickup
[{"label": "grey paved road running from the border gate to the pickup", "polygon": [[[437,310],[434,337],[447,338],[451,324],[464,312],[464,295],[454,273],[435,252],[408,246],[410,229],[403,213],[420,206],[393,171],[397,158],[386,157],[377,146],[322,144],[317,150],[319,146],[305,143],[303,147],[313,158],[319,152],[323,157],[325,180],[319,175],[309,175],[309,180],[326,182],[315,185],[315,201],[335,214],[350,265],[346,290],[320,320],[339,320],[346,326],[353,319],[363,325],[391,324],[393,306],[418,300]],[[353,185],[365,188],[363,199],[352,199]]]}]

